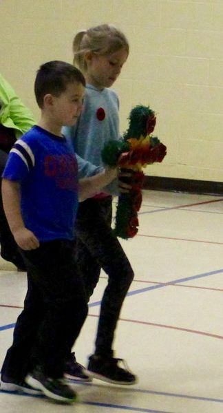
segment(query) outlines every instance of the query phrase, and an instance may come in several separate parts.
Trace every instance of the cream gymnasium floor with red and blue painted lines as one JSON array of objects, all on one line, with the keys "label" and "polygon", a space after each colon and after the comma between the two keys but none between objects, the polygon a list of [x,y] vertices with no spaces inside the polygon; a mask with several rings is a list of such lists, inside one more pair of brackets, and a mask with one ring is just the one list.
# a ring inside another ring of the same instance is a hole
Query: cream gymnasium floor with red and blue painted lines
[{"label": "cream gymnasium floor with red and blue painted lines", "polygon": [[[140,230],[122,241],[135,279],[116,332],[116,357],[138,374],[134,386],[94,380],[72,385],[74,405],[0,392],[6,413],[223,412],[223,198],[145,191]],[[0,261],[0,364],[23,306],[25,273]],[[76,342],[85,364],[94,348],[105,274]]]}]

